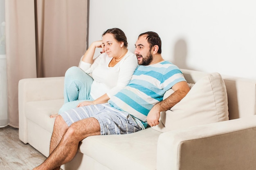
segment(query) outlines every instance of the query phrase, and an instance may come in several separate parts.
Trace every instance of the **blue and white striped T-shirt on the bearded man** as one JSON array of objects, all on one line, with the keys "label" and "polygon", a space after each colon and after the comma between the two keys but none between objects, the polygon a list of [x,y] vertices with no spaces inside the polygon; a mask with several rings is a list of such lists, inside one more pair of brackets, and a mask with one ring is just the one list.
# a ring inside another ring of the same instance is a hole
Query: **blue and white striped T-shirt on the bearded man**
[{"label": "blue and white striped T-shirt on the bearded man", "polygon": [[178,82],[186,81],[180,69],[168,61],[138,66],[130,83],[108,103],[136,117],[144,126],[150,109],[163,100],[164,93]]}]

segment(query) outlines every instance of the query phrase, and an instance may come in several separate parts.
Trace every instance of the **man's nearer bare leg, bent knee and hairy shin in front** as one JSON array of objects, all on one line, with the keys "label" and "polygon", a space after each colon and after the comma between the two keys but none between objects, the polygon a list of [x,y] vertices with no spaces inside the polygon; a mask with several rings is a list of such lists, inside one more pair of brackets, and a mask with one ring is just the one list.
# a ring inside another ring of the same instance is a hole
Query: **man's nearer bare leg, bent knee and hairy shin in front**
[{"label": "man's nearer bare leg, bent knee and hairy shin in front", "polygon": [[49,157],[34,170],[54,170],[71,161],[76,155],[79,142],[92,135],[100,135],[100,125],[97,119],[90,117],[75,122],[67,129]]}]

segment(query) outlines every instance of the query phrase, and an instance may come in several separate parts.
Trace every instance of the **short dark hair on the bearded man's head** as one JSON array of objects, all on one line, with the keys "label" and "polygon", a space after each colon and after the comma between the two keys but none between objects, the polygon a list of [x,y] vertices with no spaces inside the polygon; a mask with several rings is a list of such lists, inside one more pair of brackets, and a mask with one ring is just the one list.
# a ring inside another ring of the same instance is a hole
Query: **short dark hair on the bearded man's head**
[{"label": "short dark hair on the bearded man's head", "polygon": [[[146,35],[146,39],[148,40],[148,43],[150,44],[150,49],[154,46],[154,45],[158,45],[158,51],[157,53],[161,54],[162,53],[162,42],[161,42],[161,39],[159,37],[159,35],[153,31],[148,31],[146,33],[141,33],[139,35],[142,36],[142,35]],[[138,37],[138,38],[139,38]]]}]

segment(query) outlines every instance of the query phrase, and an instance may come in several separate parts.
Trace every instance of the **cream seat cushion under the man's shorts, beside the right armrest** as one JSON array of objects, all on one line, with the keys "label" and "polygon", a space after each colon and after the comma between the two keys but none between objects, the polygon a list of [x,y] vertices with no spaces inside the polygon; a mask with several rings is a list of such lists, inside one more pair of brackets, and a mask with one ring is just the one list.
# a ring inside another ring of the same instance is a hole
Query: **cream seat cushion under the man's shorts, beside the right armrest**
[{"label": "cream seat cushion under the man's shorts, beside the right armrest", "polygon": [[125,135],[97,135],[83,139],[80,152],[111,170],[156,170],[161,132],[146,128]]}]

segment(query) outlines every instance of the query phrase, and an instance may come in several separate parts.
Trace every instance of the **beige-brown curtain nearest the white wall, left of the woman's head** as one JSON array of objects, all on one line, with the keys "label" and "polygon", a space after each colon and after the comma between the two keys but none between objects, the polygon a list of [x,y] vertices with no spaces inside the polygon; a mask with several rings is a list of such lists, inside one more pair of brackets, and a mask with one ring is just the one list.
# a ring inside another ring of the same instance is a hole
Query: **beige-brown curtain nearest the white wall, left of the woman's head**
[{"label": "beige-brown curtain nearest the white wall, left of the woman's head", "polygon": [[86,50],[87,0],[37,0],[37,75],[63,76]]}]

